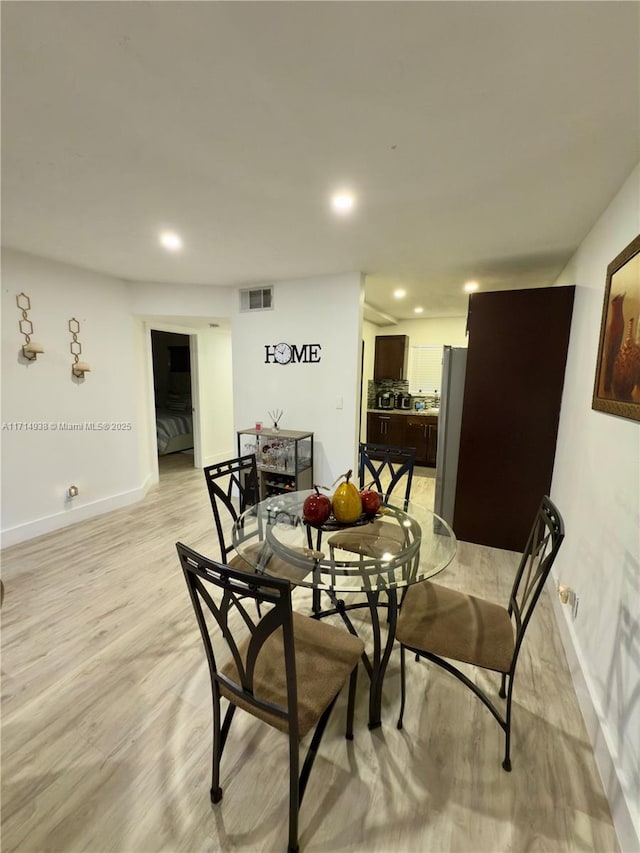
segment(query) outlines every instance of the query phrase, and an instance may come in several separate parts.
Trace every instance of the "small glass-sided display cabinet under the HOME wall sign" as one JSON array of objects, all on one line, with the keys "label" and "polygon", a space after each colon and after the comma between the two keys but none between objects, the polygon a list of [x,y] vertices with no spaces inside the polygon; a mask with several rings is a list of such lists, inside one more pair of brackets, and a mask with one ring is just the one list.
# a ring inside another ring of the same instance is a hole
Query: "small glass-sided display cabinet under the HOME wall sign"
[{"label": "small glass-sided display cabinet under the HOME wall sign", "polygon": [[255,453],[260,500],[313,487],[313,433],[290,429],[238,431],[238,455]]}]

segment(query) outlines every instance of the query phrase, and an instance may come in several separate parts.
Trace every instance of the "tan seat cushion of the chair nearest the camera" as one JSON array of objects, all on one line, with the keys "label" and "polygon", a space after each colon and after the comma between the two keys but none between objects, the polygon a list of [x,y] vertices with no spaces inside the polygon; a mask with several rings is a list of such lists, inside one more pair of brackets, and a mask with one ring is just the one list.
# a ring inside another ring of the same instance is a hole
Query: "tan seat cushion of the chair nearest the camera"
[{"label": "tan seat cushion of the chair nearest the camera", "polygon": [[[322,716],[333,697],[351,675],[364,651],[364,643],[344,628],[311,619],[300,613],[293,614],[295,639],[296,679],[298,682],[298,731],[303,738]],[[248,640],[240,647],[246,660]],[[239,683],[233,660],[222,667],[223,675]],[[245,699],[233,696],[221,686],[221,693],[232,699],[255,717],[271,726],[288,731],[286,720],[256,708]],[[260,650],[254,675],[254,695],[287,707],[287,679],[284,667],[282,630],[275,631]]]}]

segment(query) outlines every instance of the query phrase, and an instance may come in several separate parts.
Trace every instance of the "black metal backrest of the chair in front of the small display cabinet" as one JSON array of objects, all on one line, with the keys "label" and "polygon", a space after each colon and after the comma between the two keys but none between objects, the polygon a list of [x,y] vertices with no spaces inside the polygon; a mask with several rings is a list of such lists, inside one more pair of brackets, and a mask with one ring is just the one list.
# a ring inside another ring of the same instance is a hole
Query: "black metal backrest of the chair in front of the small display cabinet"
[{"label": "black metal backrest of the chair in front of the small display cabinet", "polygon": [[247,507],[259,501],[255,454],[209,465],[204,469],[204,478],[218,532],[221,562],[227,563],[235,543],[227,544],[225,527],[228,528],[229,522],[235,522]]}]

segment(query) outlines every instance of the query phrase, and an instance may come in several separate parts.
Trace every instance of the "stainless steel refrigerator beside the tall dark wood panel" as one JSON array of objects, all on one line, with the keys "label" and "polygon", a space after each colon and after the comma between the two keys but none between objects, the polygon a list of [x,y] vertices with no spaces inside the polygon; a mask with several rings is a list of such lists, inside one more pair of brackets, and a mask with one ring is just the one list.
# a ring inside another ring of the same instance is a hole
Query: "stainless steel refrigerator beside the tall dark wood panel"
[{"label": "stainless steel refrigerator beside the tall dark wood panel", "polygon": [[434,511],[453,527],[458,478],[458,452],[464,379],[467,369],[465,347],[443,348],[440,383],[440,416],[438,417],[438,449],[436,453],[436,490]]}]

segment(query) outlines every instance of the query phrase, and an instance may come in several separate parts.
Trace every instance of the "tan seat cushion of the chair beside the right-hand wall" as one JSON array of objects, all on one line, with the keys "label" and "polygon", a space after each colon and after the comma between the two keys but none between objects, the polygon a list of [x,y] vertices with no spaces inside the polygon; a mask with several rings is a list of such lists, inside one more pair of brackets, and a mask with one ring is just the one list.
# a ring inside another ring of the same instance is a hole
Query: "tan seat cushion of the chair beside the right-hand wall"
[{"label": "tan seat cushion of the chair beside the right-hand wall", "polygon": [[443,658],[508,672],[513,627],[504,607],[430,581],[409,587],[396,639]]}]

